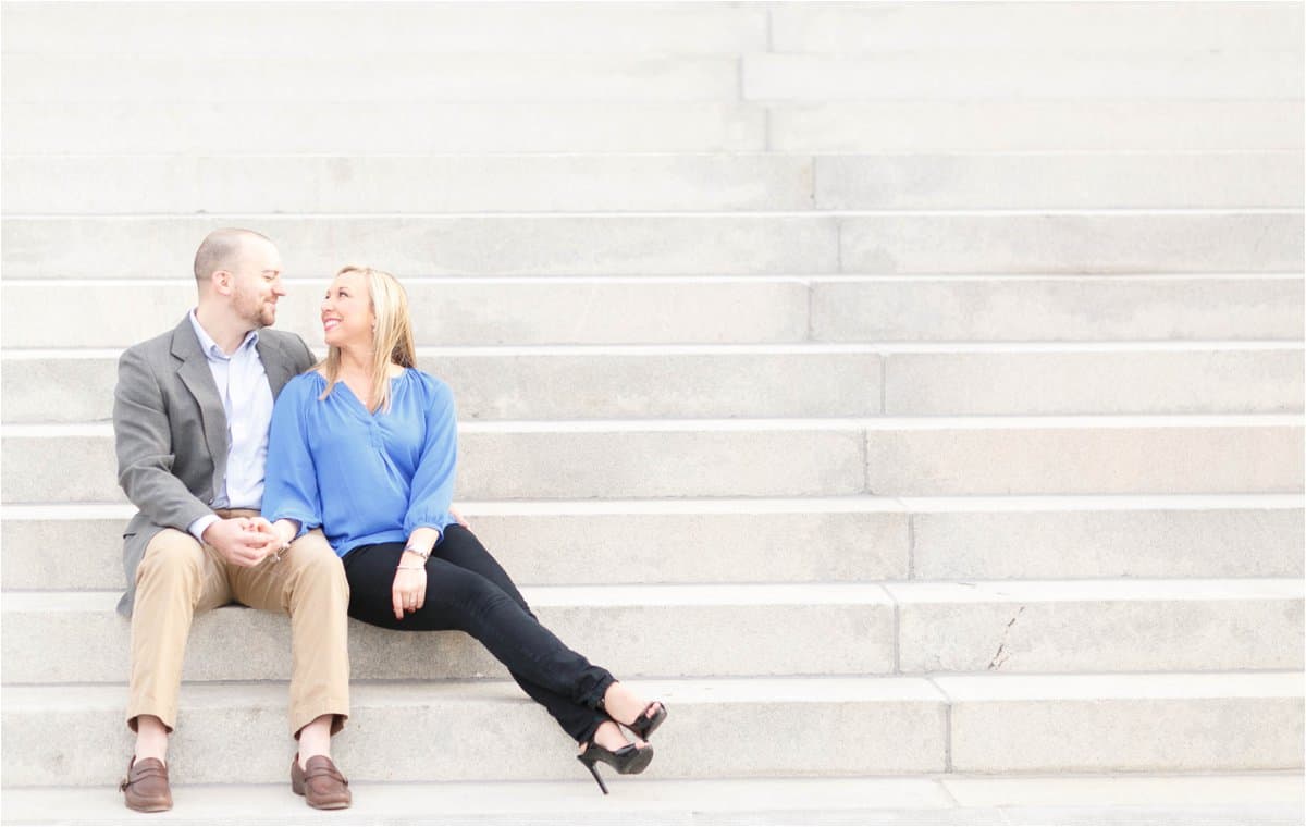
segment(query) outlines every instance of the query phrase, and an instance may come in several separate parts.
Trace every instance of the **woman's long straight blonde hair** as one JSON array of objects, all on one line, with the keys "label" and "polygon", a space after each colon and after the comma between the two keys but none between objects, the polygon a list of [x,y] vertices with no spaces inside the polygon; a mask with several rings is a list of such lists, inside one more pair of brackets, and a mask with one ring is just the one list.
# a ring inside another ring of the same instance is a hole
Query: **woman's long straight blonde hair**
[{"label": "woman's long straight blonde hair", "polygon": [[[413,344],[413,321],[407,310],[407,293],[397,278],[385,270],[347,264],[336,278],[345,273],[359,273],[367,282],[367,297],[376,316],[372,328],[372,413],[390,409],[390,363],[417,367],[417,346]],[[340,348],[328,346],[326,358],[317,363],[326,376],[326,389],[317,398],[326,398],[340,381]]]}]

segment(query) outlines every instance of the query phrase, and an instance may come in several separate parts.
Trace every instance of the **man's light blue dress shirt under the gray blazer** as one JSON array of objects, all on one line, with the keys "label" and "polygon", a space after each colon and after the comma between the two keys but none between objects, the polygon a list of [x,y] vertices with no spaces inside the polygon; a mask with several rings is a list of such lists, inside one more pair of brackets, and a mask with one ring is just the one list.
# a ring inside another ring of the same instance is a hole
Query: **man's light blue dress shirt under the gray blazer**
[{"label": "man's light blue dress shirt under the gray blazer", "polygon": [[[213,383],[227,419],[227,473],[214,493],[213,508],[252,508],[263,504],[263,477],[268,464],[268,427],[272,423],[272,385],[259,358],[259,331],[249,331],[227,355],[191,311],[191,325],[209,362]],[[205,515],[189,525],[200,540],[215,520]]]}]

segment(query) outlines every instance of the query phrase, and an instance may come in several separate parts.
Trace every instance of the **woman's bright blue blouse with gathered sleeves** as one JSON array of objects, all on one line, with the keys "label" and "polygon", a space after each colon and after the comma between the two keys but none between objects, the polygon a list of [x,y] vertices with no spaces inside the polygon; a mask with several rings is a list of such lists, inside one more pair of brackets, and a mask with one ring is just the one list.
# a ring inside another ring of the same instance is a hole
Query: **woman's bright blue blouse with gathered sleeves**
[{"label": "woman's bright blue blouse with gathered sleeves", "polygon": [[321,527],[336,554],[406,541],[453,523],[458,435],[453,393],[406,368],[390,380],[390,409],[371,414],[345,383],[319,400],[317,371],[286,383],[272,412],[263,515]]}]

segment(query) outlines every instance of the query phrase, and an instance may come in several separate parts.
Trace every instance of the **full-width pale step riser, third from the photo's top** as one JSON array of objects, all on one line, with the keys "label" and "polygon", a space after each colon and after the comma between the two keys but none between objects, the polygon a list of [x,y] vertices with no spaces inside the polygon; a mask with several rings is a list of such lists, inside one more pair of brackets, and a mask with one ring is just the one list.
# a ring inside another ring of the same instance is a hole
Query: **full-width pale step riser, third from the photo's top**
[{"label": "full-width pale step riser, third from the photo's top", "polygon": [[[9,103],[10,154],[1285,150],[1297,101]],[[247,129],[231,129],[234,119]]]}]

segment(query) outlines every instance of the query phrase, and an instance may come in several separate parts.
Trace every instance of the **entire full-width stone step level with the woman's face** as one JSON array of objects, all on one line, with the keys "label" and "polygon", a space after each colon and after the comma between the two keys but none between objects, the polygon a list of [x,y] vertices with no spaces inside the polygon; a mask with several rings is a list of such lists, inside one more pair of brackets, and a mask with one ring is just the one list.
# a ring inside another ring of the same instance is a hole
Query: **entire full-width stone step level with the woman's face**
[{"label": "entire full-width stone step level with the woman's face", "polygon": [[[319,353],[326,282],[326,276],[287,280],[289,295],[277,314],[281,329],[303,336]],[[404,284],[421,346],[818,341],[919,342],[919,350],[944,342],[1079,346],[1121,340],[1296,345],[1306,328],[1302,280],[1294,274],[405,277]],[[4,280],[0,346],[125,348],[172,329],[193,303],[193,280]],[[131,312],[104,314],[106,307]],[[974,346],[963,350],[973,353]]]}]

